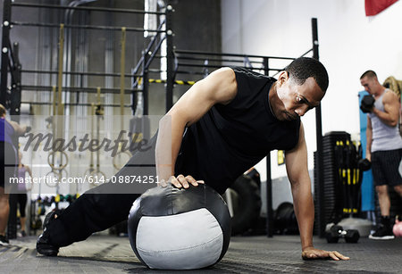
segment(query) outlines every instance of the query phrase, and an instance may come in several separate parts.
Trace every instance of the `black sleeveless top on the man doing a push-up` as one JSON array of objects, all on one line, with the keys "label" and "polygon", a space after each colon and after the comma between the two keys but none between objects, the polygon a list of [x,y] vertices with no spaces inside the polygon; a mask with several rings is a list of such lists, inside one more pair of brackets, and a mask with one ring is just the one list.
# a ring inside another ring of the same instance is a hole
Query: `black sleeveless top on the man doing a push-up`
[{"label": "black sleeveless top on the man doing a push-up", "polygon": [[230,104],[215,104],[186,129],[176,161],[176,176],[191,175],[223,193],[273,149],[297,145],[300,120],[280,121],[272,114],[271,77],[232,68],[238,94]]}]

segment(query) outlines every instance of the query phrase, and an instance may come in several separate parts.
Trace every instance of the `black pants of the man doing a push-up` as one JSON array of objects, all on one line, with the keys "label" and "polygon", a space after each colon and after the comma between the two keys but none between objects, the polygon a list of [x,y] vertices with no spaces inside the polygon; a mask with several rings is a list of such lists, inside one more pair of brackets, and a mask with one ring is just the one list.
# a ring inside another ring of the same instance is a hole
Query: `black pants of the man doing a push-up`
[{"label": "black pants of the man doing a push-up", "polygon": [[[116,181],[132,175],[155,176],[155,142],[156,136],[149,141],[150,148],[146,152],[133,154],[130,161],[115,175]],[[154,183],[147,187],[155,186]],[[50,244],[66,246],[127,220],[132,203],[140,194],[124,187],[133,186],[108,183],[88,190],[57,219],[48,223],[44,236],[49,237]]]}]

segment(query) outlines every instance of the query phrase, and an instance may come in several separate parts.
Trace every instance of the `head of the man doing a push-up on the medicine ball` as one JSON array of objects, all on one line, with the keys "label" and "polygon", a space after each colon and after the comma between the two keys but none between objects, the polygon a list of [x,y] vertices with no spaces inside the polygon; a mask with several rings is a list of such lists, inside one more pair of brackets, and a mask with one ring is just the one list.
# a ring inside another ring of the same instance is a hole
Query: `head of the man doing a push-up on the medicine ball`
[{"label": "head of the man doing a push-up on the medicine ball", "polygon": [[297,58],[280,73],[276,82],[278,98],[272,94],[270,101],[272,111],[279,120],[296,120],[320,104],[328,82],[328,73],[321,62]]}]

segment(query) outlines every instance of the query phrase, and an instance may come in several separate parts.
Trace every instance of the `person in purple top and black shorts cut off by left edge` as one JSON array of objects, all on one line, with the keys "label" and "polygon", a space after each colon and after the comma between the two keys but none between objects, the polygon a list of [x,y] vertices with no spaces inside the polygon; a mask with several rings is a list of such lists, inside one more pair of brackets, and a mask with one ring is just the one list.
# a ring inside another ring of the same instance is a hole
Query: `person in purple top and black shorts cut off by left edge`
[{"label": "person in purple top and black shorts cut off by left edge", "polygon": [[29,127],[21,127],[14,121],[5,119],[6,110],[0,104],[0,245],[8,245],[5,237],[8,213],[10,212],[9,193],[5,191],[5,184],[8,179],[15,175],[17,165],[16,149],[13,145],[13,138],[20,137],[29,131]]}]

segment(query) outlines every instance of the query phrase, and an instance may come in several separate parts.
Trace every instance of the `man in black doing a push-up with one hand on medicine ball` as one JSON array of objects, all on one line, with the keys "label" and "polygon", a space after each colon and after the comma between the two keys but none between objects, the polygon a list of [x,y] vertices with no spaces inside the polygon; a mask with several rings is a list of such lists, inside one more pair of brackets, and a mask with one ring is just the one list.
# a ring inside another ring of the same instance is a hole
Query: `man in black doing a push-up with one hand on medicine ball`
[{"label": "man in black doing a push-up with one hand on medicine ball", "polygon": [[[188,188],[205,183],[222,194],[271,150],[283,149],[303,259],[348,260],[313,245],[314,202],[300,116],[320,104],[327,87],[328,74],[322,63],[307,57],[291,62],[278,79],[237,67],[214,71],[189,88],[160,120],[157,137],[151,142],[159,185]],[[128,164],[136,161],[140,159],[133,156]],[[124,172],[128,171],[123,168],[116,176]],[[38,253],[55,255],[59,247],[96,231],[90,228],[101,230],[127,220],[137,197],[81,195],[48,221],[38,237]],[[88,212],[91,218],[85,217]],[[109,217],[105,212],[113,214]],[[102,216],[101,220],[97,216]]]}]

